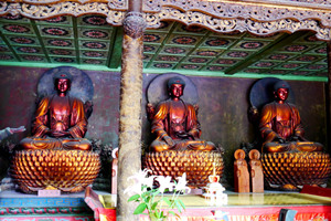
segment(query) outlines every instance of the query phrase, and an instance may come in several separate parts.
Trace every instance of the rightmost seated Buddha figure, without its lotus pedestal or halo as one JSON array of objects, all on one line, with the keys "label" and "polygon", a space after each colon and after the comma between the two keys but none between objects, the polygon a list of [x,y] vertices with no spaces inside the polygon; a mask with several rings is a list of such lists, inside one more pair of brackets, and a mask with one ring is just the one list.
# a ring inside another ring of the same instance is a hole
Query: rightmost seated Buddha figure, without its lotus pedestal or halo
[{"label": "rightmost seated Buddha figure, without its lotus pedestal or halo", "polygon": [[303,137],[299,110],[293,104],[287,103],[289,85],[285,81],[274,84],[275,101],[263,107],[259,131],[264,152],[284,151],[322,151],[319,143],[309,141]]}]

